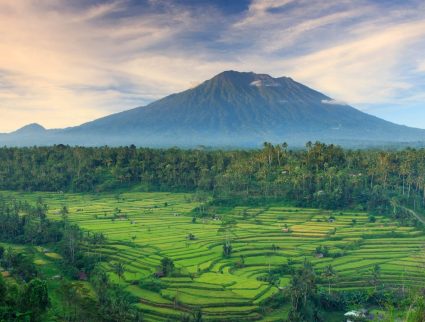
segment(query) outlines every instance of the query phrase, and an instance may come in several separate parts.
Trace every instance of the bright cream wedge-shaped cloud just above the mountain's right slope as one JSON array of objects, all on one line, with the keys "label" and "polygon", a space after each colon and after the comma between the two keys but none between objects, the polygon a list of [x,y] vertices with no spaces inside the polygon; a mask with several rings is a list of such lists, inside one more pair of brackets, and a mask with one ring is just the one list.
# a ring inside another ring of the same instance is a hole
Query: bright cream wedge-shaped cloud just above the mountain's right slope
[{"label": "bright cream wedge-shaped cloud just above the mountain's right slope", "polygon": [[[424,36],[425,21],[389,26],[293,58],[286,68],[299,80],[352,103],[383,103],[415,85],[406,78],[415,59],[409,48]],[[425,42],[420,46],[425,49]]]}]

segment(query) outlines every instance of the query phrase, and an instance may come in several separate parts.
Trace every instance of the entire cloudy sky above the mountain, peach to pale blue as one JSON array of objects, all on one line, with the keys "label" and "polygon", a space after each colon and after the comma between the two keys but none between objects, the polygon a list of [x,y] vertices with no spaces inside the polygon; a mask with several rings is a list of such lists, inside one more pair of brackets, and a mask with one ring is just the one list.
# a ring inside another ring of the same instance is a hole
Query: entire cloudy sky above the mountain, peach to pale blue
[{"label": "entire cloudy sky above the mountain, peach to pale blue", "polygon": [[224,70],[425,128],[423,0],[0,0],[0,132],[143,106]]}]

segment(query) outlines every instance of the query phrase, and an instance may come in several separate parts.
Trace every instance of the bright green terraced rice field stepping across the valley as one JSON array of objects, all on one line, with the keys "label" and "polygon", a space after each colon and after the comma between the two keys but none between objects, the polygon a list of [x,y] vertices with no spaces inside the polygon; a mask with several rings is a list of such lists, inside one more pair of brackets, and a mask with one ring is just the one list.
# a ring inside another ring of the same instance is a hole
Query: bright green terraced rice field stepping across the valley
[{"label": "bright green terraced rice field stepping across the valley", "polygon": [[[104,233],[108,243],[96,251],[108,258],[103,265],[117,282],[112,265],[124,263],[121,283],[140,298],[138,305],[148,321],[177,319],[195,307],[208,320],[262,319],[261,303],[287,286],[290,276],[282,276],[279,287],[257,277],[288,259],[301,263],[308,258],[319,274],[332,264],[337,272],[334,290],[371,287],[375,264],[380,265],[386,285],[425,284],[423,232],[385,217],[376,216],[371,223],[366,213],[235,207],[217,210],[219,219],[198,218],[193,223],[192,210],[199,203],[189,194],[14,195],[27,200],[42,196],[51,218],[59,218],[58,210],[66,205],[72,222]],[[125,218],[111,218],[116,208]],[[334,221],[329,220],[331,215]],[[229,218],[234,224],[224,228],[223,221]],[[188,240],[189,234],[195,240]],[[222,256],[226,240],[233,247],[230,258]],[[340,256],[317,258],[318,246],[328,246],[331,254]],[[159,292],[140,288],[136,282],[152,276],[165,256],[174,260],[181,277],[162,278],[166,288]]]}]

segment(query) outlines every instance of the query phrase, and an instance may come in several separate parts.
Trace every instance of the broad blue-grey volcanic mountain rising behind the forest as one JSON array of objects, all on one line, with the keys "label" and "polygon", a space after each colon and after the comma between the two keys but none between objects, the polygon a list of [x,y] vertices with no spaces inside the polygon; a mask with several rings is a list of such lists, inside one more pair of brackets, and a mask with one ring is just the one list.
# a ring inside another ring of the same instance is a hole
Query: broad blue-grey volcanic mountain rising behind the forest
[{"label": "broad blue-grey volcanic mountain rising behind the forest", "polygon": [[8,145],[254,147],[309,140],[345,146],[425,142],[425,130],[363,113],[288,77],[226,71],[145,107],[77,127],[46,131],[32,124],[0,136]]}]

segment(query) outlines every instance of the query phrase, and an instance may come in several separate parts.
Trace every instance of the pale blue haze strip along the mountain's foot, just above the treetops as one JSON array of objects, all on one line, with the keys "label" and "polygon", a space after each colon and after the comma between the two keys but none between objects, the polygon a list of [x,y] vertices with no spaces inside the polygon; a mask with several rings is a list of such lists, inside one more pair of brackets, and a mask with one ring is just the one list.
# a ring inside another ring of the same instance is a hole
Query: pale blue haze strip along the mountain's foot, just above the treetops
[{"label": "pale blue haze strip along the mountain's foot, just above the treetops", "polygon": [[66,131],[47,130],[40,134],[0,134],[0,144],[2,146],[28,147],[28,146],[51,146],[51,145],[70,145],[70,146],[129,146],[135,145],[138,147],[152,148],[221,148],[221,149],[255,149],[262,146],[263,142],[272,142],[278,144],[281,142],[290,143],[293,148],[303,148],[305,142],[319,140],[328,144],[338,144],[347,148],[405,148],[425,146],[425,141],[408,141],[408,140],[387,140],[385,138],[371,139],[353,139],[350,137],[342,137],[337,135],[326,135],[323,133],[310,133],[300,135],[285,135],[276,136],[273,134],[243,134],[243,133],[192,133],[186,134],[168,134],[168,135],[152,135],[152,133],[130,133],[127,135],[100,135],[93,134],[75,134],[67,133]]}]

